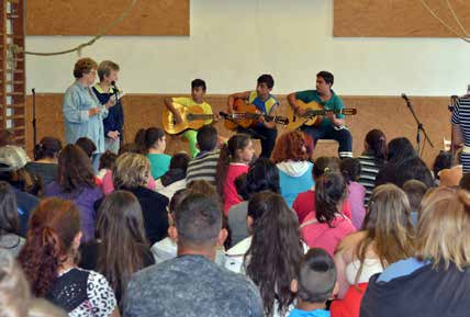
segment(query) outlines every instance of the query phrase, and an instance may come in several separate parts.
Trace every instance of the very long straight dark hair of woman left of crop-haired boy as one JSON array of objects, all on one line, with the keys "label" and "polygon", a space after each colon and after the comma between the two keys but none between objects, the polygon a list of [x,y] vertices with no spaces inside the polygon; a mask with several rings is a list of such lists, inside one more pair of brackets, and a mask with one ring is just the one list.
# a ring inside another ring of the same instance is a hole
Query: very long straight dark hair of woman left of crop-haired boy
[{"label": "very long straight dark hair of woman left of crop-haired boy", "polygon": [[253,238],[245,253],[246,273],[258,285],[270,316],[275,299],[280,313],[286,313],[294,297],[290,283],[303,254],[299,220],[284,199],[273,192],[260,192],[248,203],[253,218]]}]

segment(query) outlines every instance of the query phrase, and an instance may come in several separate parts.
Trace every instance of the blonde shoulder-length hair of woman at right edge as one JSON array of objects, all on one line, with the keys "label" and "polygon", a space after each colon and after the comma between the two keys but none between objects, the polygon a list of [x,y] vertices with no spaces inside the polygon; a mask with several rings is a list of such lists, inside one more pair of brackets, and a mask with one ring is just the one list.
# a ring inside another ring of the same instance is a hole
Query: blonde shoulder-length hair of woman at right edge
[{"label": "blonde shoulder-length hair of woman at right edge", "polygon": [[419,260],[432,260],[445,269],[470,264],[470,194],[452,188],[437,188],[423,199],[416,235]]}]

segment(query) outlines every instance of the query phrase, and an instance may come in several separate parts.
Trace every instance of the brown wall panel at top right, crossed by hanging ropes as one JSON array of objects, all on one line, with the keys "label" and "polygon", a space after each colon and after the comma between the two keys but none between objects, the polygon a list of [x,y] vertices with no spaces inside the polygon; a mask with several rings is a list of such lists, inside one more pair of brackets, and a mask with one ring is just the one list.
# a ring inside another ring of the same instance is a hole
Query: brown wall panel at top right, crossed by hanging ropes
[{"label": "brown wall panel at top right, crossed by hanging ropes", "polygon": [[[460,31],[446,1],[426,0],[426,3],[447,24]],[[450,3],[470,33],[470,1]],[[334,0],[334,36],[337,37],[455,37],[419,0]]]}]

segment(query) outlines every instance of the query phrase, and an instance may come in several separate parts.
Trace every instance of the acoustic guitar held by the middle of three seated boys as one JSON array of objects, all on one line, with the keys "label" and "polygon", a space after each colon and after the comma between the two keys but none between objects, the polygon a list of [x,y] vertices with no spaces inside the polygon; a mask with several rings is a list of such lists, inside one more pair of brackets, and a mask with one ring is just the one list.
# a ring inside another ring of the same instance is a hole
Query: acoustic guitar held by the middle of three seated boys
[{"label": "acoustic guitar held by the middle of three seated boys", "polygon": [[230,131],[236,131],[237,127],[248,128],[255,126],[259,123],[259,118],[262,116],[267,122],[276,122],[277,124],[288,125],[289,118],[286,116],[278,115],[267,115],[260,113],[259,110],[254,104],[246,103],[243,99],[236,99],[234,103],[234,113],[225,114],[221,112],[221,115],[224,115],[225,128]]}]

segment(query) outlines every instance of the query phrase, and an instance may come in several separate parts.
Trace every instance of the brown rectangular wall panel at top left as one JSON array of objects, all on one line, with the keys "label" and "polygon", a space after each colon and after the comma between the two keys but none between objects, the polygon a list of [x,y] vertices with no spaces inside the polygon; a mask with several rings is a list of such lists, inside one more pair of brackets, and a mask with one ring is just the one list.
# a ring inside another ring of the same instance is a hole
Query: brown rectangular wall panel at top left
[{"label": "brown rectangular wall panel at top left", "polygon": [[[132,0],[29,0],[27,35],[97,35]],[[189,35],[189,0],[138,0],[107,35]]]}]

